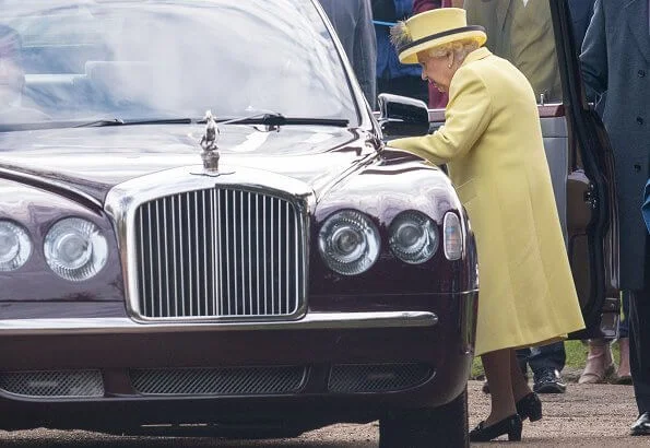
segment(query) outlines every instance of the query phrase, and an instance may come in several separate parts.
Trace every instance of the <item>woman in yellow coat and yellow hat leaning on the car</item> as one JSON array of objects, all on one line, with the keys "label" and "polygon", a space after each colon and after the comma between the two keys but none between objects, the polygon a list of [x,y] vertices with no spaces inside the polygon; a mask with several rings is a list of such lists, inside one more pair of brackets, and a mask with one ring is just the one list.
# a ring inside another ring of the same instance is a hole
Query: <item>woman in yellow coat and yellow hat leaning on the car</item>
[{"label": "woman in yellow coat and yellow hat leaning on the car", "polygon": [[521,421],[541,402],[515,350],[584,327],[544,153],[535,96],[525,76],[483,47],[485,32],[462,9],[416,14],[392,30],[402,63],[449,93],[446,122],[393,148],[447,164],[476,236],[480,298],[476,354],[492,394],[474,441],[521,438]]}]

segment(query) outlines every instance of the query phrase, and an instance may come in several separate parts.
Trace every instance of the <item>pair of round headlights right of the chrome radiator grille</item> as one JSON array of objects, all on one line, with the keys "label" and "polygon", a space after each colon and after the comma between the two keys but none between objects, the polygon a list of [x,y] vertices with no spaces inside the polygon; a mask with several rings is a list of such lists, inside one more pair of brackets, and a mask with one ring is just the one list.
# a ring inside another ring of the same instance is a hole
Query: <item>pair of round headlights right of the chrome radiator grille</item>
[{"label": "pair of round headlights right of the chrome radiator grille", "polygon": [[[377,261],[381,237],[373,221],[356,210],[343,210],[326,220],[318,238],[326,264],[343,275],[367,271]],[[394,217],[389,227],[388,247],[400,260],[421,264],[432,259],[439,246],[434,221],[409,210]]]}]

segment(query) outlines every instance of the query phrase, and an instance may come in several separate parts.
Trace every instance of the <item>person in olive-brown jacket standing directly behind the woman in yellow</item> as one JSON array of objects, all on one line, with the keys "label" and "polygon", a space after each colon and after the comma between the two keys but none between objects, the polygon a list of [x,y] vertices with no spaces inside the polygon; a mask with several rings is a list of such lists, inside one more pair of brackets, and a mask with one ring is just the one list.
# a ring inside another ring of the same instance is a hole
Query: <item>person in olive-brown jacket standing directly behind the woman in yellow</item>
[{"label": "person in olive-brown jacket standing directly behind the woman in yellow", "polygon": [[[582,1],[582,0],[579,0]],[[495,55],[508,59],[529,80],[537,102],[562,99],[559,67],[547,1],[464,0],[468,23],[487,31],[486,46]],[[537,393],[564,393],[562,370],[566,363],[563,341],[517,351],[519,366],[533,373],[533,390]],[[489,392],[487,381],[483,391]]]}]

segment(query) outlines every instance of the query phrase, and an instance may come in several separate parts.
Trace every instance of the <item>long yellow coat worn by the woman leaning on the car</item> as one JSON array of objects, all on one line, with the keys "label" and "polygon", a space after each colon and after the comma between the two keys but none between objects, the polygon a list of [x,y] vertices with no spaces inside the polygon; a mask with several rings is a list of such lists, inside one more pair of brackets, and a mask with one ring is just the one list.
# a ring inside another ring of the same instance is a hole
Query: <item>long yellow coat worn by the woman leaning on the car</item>
[{"label": "long yellow coat worn by the woman leaning on the car", "polygon": [[448,164],[468,210],[478,251],[476,355],[583,328],[530,83],[480,48],[456,72],[445,117],[430,135],[389,144]]}]

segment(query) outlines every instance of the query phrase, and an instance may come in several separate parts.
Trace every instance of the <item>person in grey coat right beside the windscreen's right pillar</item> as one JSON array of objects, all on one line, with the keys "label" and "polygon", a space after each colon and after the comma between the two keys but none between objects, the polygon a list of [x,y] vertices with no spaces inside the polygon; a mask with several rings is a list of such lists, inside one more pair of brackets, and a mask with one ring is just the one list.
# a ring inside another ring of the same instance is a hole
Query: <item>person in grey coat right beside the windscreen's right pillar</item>
[{"label": "person in grey coat right beside the windscreen's right pillar", "polygon": [[347,59],[354,69],[368,104],[377,101],[377,38],[370,0],[320,0]]}]

